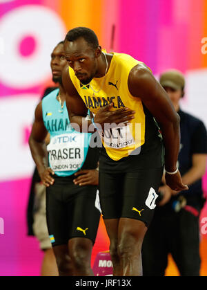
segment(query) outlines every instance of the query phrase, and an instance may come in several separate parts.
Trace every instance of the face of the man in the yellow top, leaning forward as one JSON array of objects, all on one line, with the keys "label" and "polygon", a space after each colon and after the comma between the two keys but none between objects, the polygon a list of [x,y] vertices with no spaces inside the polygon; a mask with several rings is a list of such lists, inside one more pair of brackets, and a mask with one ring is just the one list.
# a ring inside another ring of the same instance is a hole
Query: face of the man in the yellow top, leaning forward
[{"label": "face of the man in the yellow top, leaning forward", "polygon": [[[85,39],[78,38],[74,42],[65,41],[66,60],[75,71],[82,84],[88,84],[97,72],[97,50],[92,48]],[[99,49],[99,48],[97,48]]]}]

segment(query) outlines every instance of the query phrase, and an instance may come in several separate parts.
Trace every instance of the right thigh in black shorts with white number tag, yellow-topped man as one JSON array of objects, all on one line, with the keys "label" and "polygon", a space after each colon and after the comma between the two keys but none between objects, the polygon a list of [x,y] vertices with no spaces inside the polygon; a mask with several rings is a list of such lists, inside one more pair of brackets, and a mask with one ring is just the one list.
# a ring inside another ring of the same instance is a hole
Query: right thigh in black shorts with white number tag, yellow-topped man
[{"label": "right thigh in black shorts with white number tag, yellow-topped man", "polygon": [[149,226],[162,173],[162,167],[126,173],[121,217],[139,219]]}]

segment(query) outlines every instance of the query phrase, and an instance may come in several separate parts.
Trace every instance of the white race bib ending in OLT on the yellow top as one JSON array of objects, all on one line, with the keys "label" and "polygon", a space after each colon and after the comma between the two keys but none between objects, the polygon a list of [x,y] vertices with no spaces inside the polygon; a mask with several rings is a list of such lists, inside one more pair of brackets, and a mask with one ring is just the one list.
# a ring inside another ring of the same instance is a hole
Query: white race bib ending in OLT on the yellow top
[{"label": "white race bib ending in OLT on the yellow top", "polygon": [[121,149],[135,144],[129,126],[115,127],[105,129],[104,132],[100,132],[102,141],[106,147]]}]

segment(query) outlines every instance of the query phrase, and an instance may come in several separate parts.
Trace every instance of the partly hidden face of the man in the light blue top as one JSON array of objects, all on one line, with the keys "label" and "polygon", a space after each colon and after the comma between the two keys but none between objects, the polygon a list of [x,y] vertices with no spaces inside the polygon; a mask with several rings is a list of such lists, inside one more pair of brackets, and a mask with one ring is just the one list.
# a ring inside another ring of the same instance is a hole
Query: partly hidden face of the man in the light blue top
[{"label": "partly hidden face of the man in the light blue top", "polygon": [[59,84],[62,83],[61,73],[63,67],[66,66],[66,64],[67,62],[64,54],[63,44],[58,44],[58,46],[56,46],[54,51],[51,53],[50,66],[52,69],[53,82],[59,82]]}]

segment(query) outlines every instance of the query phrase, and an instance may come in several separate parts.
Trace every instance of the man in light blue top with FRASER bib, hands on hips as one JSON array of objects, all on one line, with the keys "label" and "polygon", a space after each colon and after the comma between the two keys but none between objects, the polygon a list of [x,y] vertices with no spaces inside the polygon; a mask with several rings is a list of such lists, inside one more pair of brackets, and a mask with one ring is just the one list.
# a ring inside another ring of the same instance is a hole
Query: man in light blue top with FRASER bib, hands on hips
[{"label": "man in light blue top with FRASER bib, hands on hips", "polygon": [[99,152],[90,147],[92,134],[76,132],[70,126],[61,82],[66,65],[61,42],[51,54],[52,77],[59,87],[37,105],[29,143],[46,185],[48,232],[59,275],[93,275],[90,257],[100,218]]}]

